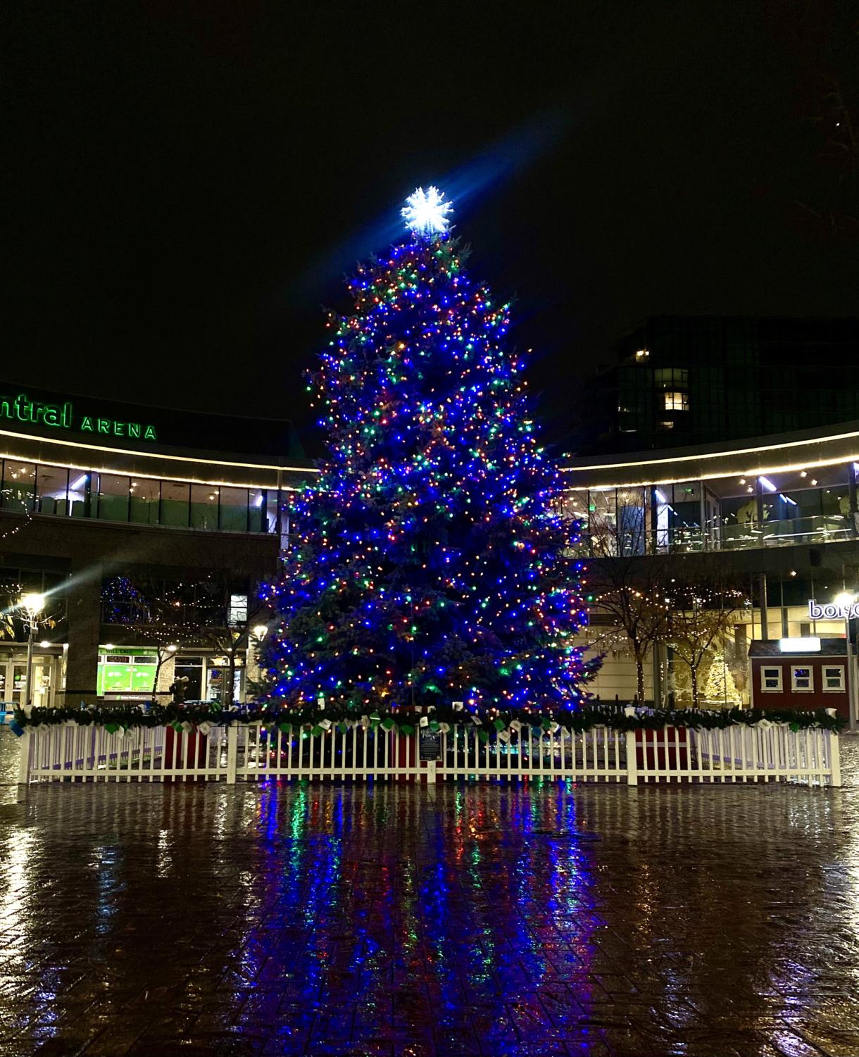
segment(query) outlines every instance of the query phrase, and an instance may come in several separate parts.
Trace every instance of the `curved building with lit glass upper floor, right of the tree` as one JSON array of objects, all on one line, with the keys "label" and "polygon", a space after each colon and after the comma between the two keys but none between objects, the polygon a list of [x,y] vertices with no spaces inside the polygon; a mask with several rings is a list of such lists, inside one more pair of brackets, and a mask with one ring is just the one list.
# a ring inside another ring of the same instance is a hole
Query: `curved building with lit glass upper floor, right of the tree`
[{"label": "curved building with lit glass upper floor, right of the tree", "polygon": [[[602,563],[640,558],[648,565],[639,568],[661,570],[668,590],[674,556],[683,555],[687,571],[698,561],[703,572],[715,570],[747,593],[751,605],[736,612],[722,655],[708,659],[725,669],[712,681],[723,701],[846,708],[839,694],[856,683],[843,602],[859,586],[859,422],[569,459],[565,471],[569,511],[582,524],[581,553],[593,558],[597,579]],[[605,632],[598,608],[592,617],[590,639],[605,652],[596,690],[630,700],[629,644]],[[813,665],[818,652],[840,655],[842,674],[835,661]],[[688,701],[683,666],[672,665],[670,648],[652,653],[646,696]],[[754,660],[773,654],[767,664]]]}]

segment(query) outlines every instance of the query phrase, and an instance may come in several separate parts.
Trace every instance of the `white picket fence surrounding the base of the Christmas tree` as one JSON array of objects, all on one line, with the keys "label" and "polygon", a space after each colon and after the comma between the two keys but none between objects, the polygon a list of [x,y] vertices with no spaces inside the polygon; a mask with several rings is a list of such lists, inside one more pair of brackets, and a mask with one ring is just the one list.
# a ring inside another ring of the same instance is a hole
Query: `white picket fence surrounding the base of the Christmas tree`
[{"label": "white picket fence surrounding the base of the Christmas tree", "polygon": [[[662,727],[586,734],[523,727],[510,740],[482,741],[472,724],[434,739],[360,726],[317,737],[261,723],[208,734],[172,727],[39,726],[21,738],[19,781],[257,781],[358,779],[564,779],[577,782],[690,784],[788,781],[840,785],[838,735],[732,726]],[[423,753],[422,753],[423,748]],[[431,749],[431,750],[430,750]],[[434,756],[434,759],[427,759]]]}]

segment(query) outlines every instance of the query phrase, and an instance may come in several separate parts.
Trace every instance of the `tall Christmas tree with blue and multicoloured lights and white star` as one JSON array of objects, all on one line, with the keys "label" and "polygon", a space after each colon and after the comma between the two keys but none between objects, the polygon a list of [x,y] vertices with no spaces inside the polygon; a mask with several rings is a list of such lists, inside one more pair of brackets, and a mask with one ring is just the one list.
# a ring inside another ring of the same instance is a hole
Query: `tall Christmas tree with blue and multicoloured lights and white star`
[{"label": "tall Christmas tree with blue and multicoloured lights and white star", "polygon": [[509,304],[463,270],[450,204],[359,266],[310,391],[328,456],[293,512],[270,600],[268,697],[341,707],[575,707],[595,667],[577,526],[528,412]]}]

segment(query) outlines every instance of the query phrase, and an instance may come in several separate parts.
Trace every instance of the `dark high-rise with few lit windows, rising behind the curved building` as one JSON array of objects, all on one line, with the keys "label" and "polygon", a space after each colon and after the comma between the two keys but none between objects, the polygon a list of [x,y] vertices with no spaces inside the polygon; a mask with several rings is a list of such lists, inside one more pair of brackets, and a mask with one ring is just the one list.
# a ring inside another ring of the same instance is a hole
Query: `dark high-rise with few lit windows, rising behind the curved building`
[{"label": "dark high-rise with few lit windows, rising behind the curved building", "polygon": [[781,434],[859,419],[854,319],[651,317],[583,391],[580,453]]}]

